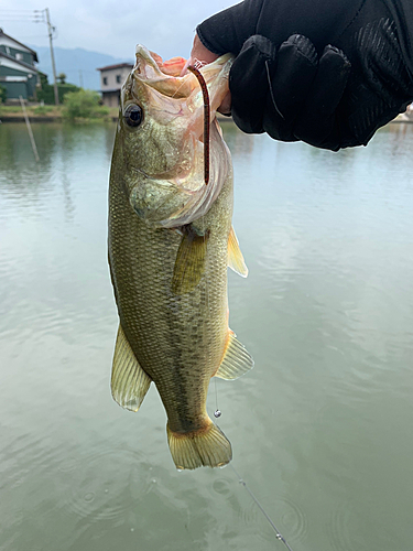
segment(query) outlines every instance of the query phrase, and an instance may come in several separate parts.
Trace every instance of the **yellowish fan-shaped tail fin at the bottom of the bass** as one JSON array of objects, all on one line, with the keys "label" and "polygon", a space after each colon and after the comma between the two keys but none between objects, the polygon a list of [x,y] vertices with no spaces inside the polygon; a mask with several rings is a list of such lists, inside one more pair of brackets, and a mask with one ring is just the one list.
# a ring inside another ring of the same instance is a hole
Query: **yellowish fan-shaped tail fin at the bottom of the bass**
[{"label": "yellowish fan-shaped tail fin at the bottom of the bass", "polygon": [[166,425],[167,442],[176,468],[221,467],[232,458],[232,449],[224,432],[209,420],[196,432],[172,432]]}]

